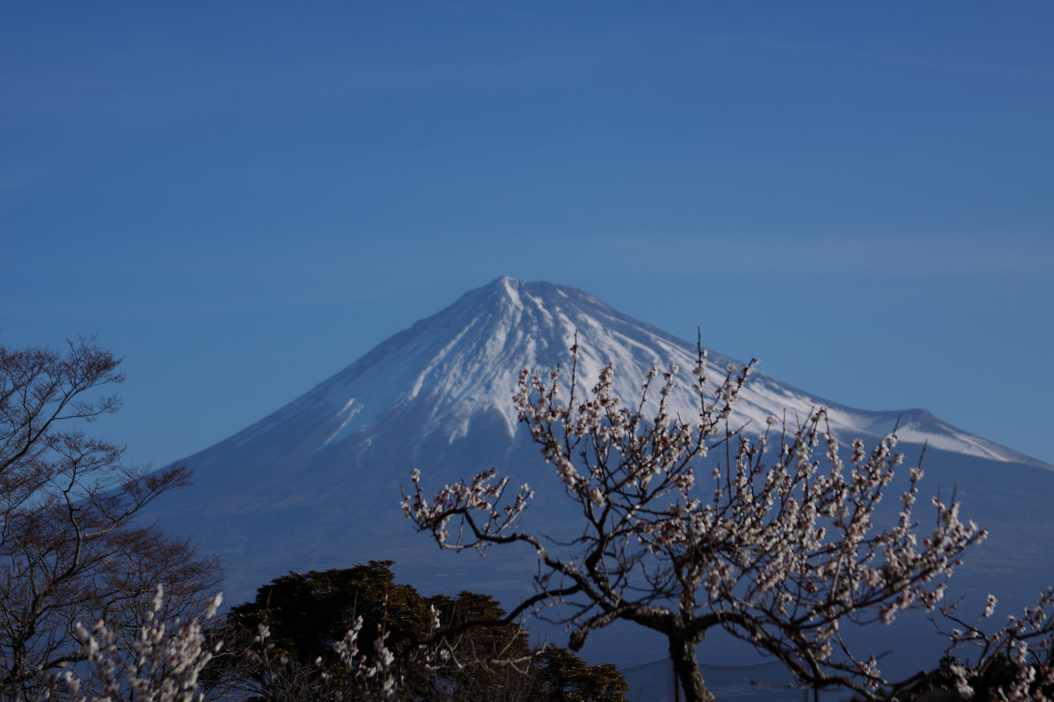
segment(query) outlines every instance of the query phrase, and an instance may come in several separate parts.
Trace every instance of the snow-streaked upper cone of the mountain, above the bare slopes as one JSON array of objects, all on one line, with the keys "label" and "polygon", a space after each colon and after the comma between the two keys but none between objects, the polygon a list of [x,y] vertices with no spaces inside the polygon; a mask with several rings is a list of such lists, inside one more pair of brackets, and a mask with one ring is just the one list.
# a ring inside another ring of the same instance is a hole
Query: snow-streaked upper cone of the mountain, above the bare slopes
[{"label": "snow-streaked upper cone of the mountain, above the bare slopes", "polygon": [[[236,439],[248,444],[291,421],[311,418],[319,428],[315,448],[369,434],[378,425],[418,417],[408,442],[440,435],[464,437],[473,415],[492,410],[504,418],[511,438],[516,417],[510,397],[523,368],[547,369],[569,360],[578,332],[583,347],[580,369],[587,381],[614,363],[617,389],[625,398],[639,394],[652,365],[681,367],[682,382],[671,403],[688,418],[698,413],[688,372],[696,348],[652,326],[638,322],[580,289],[549,283],[500,278],[472,290],[437,315],[395,335],[362,359],[321,383]],[[713,354],[711,376],[741,361]],[[1034,459],[957,429],[923,409],[864,412],[811,396],[764,374],[757,374],[742,395],[737,414],[754,427],[769,416],[806,417],[825,405],[836,430],[854,437],[885,436],[898,418],[902,440],[995,461],[1038,463]]]}]

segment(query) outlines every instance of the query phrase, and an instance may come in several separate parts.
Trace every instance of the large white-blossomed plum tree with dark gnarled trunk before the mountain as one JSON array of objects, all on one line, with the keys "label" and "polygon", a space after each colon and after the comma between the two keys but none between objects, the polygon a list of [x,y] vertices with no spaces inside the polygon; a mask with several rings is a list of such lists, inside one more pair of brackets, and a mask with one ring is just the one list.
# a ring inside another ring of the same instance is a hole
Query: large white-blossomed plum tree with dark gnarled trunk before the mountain
[{"label": "large white-blossomed plum tree with dark gnarled trunk before the mountain", "polygon": [[698,416],[682,419],[668,403],[678,366],[652,368],[627,404],[613,390],[611,365],[588,390],[577,340],[570,350],[566,390],[559,367],[547,378],[524,370],[514,402],[581,514],[573,553],[523,528],[533,492],[509,489],[494,470],[429,500],[414,469],[403,506],[417,528],[442,548],[533,549],[535,593],[510,618],[558,606],[574,650],[619,619],[660,631],[690,702],[714,699],[696,646],[716,627],[776,656],[804,686],[847,686],[868,700],[900,689],[874,657],[851,649],[842,627],[935,608],[959,555],[985,531],[937,497],[935,528],[917,531],[920,464],[909,470],[896,523],[875,525],[903,460],[896,434],[871,452],[853,442],[846,464],[819,407],[793,425],[769,418],[752,441],[731,420],[756,359],[715,382],[700,344],[691,370]]}]

